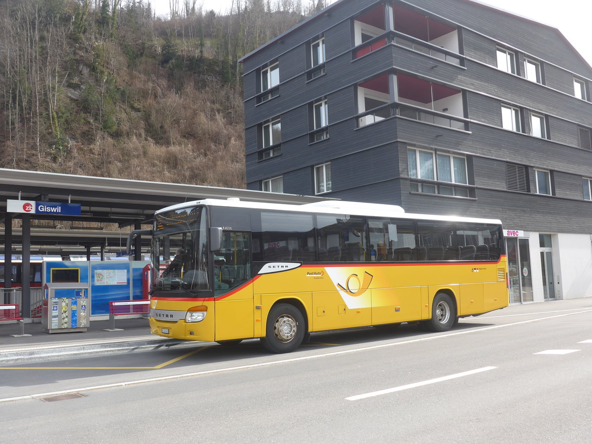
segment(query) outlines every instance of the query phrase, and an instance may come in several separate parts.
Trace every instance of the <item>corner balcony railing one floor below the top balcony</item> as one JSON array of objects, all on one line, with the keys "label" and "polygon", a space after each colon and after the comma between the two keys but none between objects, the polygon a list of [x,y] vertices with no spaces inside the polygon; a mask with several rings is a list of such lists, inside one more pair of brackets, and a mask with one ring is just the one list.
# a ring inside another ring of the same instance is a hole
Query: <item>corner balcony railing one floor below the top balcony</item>
[{"label": "corner balcony railing one floor below the top balcony", "polygon": [[356,115],[356,123],[358,128],[377,123],[386,118],[399,115],[401,117],[419,120],[426,123],[431,123],[438,126],[454,128],[456,130],[468,131],[468,122],[462,117],[454,117],[443,112],[430,111],[426,108],[413,107],[411,105],[404,105],[400,103],[385,104],[381,107],[374,108],[369,111],[362,112]]}]

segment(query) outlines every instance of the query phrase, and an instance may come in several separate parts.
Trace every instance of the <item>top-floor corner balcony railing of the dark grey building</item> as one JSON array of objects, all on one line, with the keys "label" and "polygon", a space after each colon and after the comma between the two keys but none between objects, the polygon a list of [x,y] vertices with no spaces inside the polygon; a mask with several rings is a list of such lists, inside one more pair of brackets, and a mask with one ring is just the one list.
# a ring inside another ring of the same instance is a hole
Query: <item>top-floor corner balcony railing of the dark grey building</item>
[{"label": "top-floor corner balcony railing of the dark grey building", "polygon": [[464,59],[463,56],[451,50],[436,46],[427,41],[420,40],[419,38],[408,36],[407,34],[399,33],[398,31],[387,31],[380,36],[372,38],[372,40],[368,40],[361,45],[356,46],[353,49],[353,58],[358,59],[359,57],[365,56],[366,54],[383,46],[387,46],[390,43],[427,54],[436,59],[445,60],[454,65],[462,65],[462,60]]}]

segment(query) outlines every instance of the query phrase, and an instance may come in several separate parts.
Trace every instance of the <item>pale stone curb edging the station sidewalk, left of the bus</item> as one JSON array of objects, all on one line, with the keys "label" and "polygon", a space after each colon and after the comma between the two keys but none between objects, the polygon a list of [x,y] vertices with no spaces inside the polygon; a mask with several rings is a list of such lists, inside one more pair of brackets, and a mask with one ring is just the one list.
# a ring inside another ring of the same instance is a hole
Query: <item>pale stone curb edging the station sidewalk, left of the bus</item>
[{"label": "pale stone curb edging the station sidewalk, left of the bus", "polygon": [[160,348],[195,346],[195,341],[176,339],[124,340],[119,342],[91,343],[88,345],[46,346],[0,351],[0,366],[22,363],[80,359],[101,355],[146,352]]}]

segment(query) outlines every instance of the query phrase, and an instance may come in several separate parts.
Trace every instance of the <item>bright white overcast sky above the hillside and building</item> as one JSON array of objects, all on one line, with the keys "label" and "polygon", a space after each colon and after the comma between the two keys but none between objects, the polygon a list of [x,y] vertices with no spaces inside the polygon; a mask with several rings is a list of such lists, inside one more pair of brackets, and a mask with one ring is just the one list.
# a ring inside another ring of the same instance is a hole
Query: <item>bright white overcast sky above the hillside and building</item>
[{"label": "bright white overcast sky above the hillside and building", "polygon": [[[157,15],[168,15],[170,0],[150,0]],[[303,0],[305,2],[306,0]],[[331,1],[331,0],[329,0]],[[178,0],[182,4],[184,0]],[[273,2],[273,1],[272,1]],[[197,0],[204,10],[226,13],[232,0]],[[590,0],[481,0],[481,3],[558,28],[575,49],[592,65],[592,30]]]}]

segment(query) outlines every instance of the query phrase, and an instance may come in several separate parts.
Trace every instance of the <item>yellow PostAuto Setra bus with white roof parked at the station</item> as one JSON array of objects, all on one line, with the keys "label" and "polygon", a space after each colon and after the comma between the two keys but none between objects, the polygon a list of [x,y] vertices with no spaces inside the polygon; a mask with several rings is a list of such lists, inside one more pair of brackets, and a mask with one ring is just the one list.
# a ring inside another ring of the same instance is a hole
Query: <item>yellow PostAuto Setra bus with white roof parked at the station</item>
[{"label": "yellow PostAuto Setra bus with white roof parked at the station", "polygon": [[284,353],[314,332],[410,321],[443,332],[509,303],[499,220],[229,198],[157,211],[128,252],[146,234],[150,330],[164,337],[260,338]]}]

